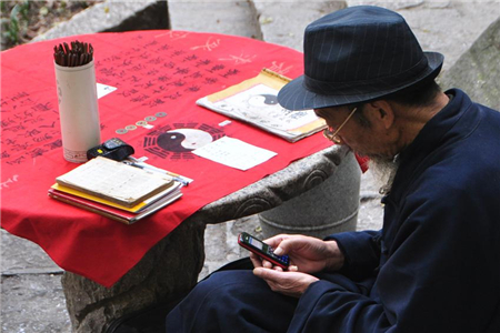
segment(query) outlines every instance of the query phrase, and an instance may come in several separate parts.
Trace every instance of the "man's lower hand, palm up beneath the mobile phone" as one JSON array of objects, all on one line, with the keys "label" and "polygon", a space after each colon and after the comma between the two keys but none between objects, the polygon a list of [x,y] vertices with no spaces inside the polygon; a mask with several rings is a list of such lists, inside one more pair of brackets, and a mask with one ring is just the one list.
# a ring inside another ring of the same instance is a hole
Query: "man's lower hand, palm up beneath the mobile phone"
[{"label": "man's lower hand, palm up beneath the mobile phone", "polygon": [[311,283],[319,280],[306,273],[283,272],[279,268],[274,270],[256,268],[253,274],[262,278],[272,291],[293,297],[300,297]]}]

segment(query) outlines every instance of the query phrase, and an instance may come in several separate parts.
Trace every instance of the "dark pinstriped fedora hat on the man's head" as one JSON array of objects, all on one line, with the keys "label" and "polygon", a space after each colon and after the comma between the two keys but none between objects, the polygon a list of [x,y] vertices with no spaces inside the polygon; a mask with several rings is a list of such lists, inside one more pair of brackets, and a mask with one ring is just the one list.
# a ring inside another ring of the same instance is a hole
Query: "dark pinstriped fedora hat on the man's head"
[{"label": "dark pinstriped fedora hat on the man's head", "polygon": [[388,9],[350,7],[306,28],[304,74],[284,85],[289,110],[366,102],[436,78],[444,57],[423,52],[404,19]]}]

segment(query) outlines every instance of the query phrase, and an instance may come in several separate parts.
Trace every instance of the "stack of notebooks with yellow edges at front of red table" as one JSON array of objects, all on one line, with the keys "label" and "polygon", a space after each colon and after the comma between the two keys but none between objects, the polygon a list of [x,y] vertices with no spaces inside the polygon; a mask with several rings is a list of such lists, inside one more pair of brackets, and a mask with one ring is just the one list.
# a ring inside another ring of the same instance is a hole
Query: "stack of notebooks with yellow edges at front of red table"
[{"label": "stack of notebooks with yellow edges at front of red table", "polygon": [[182,196],[181,186],[167,174],[98,157],[58,176],[49,196],[131,224]]}]

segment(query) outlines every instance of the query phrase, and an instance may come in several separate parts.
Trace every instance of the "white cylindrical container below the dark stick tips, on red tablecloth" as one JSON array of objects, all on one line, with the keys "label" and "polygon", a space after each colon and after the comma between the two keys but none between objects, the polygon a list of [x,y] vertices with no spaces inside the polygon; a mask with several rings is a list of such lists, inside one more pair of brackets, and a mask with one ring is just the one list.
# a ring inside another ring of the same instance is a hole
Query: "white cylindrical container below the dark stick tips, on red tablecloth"
[{"label": "white cylindrical container below the dark stick tips, on red tablecloth", "polygon": [[101,142],[93,60],[79,67],[54,65],[64,159],[87,162],[87,151]]}]

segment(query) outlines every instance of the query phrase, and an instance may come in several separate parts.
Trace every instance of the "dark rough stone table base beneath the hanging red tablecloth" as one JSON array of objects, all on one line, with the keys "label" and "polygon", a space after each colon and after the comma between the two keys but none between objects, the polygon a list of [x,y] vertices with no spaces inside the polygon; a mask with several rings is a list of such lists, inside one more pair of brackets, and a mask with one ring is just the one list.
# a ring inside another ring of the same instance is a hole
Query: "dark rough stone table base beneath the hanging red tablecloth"
[{"label": "dark rough stone table base beneath the hanging red tablecloth", "polygon": [[184,221],[112,287],[66,272],[62,286],[73,332],[103,333],[127,313],[191,290],[203,268],[204,223]]}]

